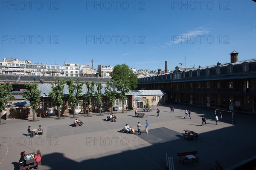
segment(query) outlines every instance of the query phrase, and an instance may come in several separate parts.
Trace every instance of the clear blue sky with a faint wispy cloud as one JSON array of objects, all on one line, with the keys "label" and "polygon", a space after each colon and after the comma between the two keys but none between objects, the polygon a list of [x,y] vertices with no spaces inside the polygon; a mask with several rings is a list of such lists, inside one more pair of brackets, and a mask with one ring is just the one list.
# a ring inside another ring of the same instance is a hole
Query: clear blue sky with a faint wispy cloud
[{"label": "clear blue sky with a faint wispy cloud", "polygon": [[[136,69],[198,67],[256,58],[256,3],[0,0],[0,60]],[[185,61],[186,57],[186,61]]]}]

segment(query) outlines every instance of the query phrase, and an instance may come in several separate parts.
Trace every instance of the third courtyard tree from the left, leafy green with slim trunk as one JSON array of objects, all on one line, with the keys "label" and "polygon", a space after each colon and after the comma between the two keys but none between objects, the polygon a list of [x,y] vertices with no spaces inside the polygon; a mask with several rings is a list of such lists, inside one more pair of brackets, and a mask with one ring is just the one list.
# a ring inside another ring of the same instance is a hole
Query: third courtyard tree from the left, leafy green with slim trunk
[{"label": "third courtyard tree from the left, leafy green with slim trunk", "polygon": [[64,97],[64,84],[66,81],[64,78],[55,78],[55,83],[52,84],[52,91],[49,92],[49,94],[52,97],[52,101],[57,106],[58,110],[58,118],[61,118],[61,112],[60,112],[60,106],[64,103],[63,97]]}]

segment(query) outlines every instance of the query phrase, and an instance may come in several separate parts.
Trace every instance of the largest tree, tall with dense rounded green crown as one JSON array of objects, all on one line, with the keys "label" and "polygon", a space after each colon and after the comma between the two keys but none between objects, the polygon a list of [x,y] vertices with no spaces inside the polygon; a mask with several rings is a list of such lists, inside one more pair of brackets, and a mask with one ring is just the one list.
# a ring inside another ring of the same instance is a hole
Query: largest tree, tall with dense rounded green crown
[{"label": "largest tree, tall with dense rounded green crown", "polygon": [[113,72],[110,75],[115,82],[117,90],[120,91],[122,112],[124,112],[125,93],[129,92],[130,89],[137,88],[138,78],[126,64],[114,66]]}]

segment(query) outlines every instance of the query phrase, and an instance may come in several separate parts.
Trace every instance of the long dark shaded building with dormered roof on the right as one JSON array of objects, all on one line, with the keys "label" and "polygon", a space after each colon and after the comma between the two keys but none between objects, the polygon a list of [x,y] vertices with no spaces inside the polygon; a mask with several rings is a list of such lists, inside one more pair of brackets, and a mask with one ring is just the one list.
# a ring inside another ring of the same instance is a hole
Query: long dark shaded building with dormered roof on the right
[{"label": "long dark shaded building with dormered roof on the right", "polygon": [[169,102],[255,113],[256,59],[238,61],[230,53],[230,63],[138,79],[138,89],[161,89]]}]

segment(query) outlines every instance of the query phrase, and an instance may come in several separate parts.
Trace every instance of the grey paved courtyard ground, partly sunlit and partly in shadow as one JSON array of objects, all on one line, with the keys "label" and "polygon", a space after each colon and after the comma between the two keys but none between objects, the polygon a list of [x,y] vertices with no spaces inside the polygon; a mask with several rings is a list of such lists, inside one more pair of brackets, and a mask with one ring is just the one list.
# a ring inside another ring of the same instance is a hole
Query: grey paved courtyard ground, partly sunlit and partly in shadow
[{"label": "grey paved courtyard ground, partly sunlit and partly in shadow", "polygon": [[[256,155],[256,116],[237,114],[232,124],[232,114],[223,112],[223,121],[215,125],[214,109],[203,109],[185,105],[158,107],[148,113],[148,118],[135,118],[134,111],[116,113],[116,122],[104,121],[103,116],[92,113],[92,117],[76,115],[84,122],[82,127],[72,127],[73,115],[62,120],[56,117],[28,120],[2,120],[0,125],[0,170],[16,170],[20,152],[41,151],[41,170],[165,170],[166,154],[172,156],[176,170],[210,170],[211,163],[218,160],[224,167],[231,167]],[[192,112],[192,119],[184,119],[184,109]],[[201,115],[207,124],[201,126]],[[145,120],[149,122],[145,133]],[[142,124],[142,135],[137,134],[137,123]],[[134,134],[120,133],[129,123]],[[44,128],[44,135],[34,138],[26,136],[31,129]],[[183,130],[200,134],[192,141],[183,138]],[[183,164],[177,153],[198,151],[199,163]]]}]

